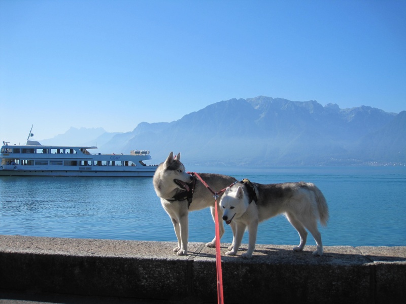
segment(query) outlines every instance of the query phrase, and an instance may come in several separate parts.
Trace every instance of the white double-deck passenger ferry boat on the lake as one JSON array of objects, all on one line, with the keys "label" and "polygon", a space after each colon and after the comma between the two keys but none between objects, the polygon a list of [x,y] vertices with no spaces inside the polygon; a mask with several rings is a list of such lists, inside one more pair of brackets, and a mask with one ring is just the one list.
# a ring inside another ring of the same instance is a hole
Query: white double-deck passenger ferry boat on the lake
[{"label": "white double-deck passenger ferry boat on the lake", "polygon": [[[31,129],[32,130],[32,129]],[[130,154],[91,154],[96,146],[52,146],[29,140],[25,145],[3,141],[0,150],[0,176],[153,176],[157,165],[147,150]]]}]

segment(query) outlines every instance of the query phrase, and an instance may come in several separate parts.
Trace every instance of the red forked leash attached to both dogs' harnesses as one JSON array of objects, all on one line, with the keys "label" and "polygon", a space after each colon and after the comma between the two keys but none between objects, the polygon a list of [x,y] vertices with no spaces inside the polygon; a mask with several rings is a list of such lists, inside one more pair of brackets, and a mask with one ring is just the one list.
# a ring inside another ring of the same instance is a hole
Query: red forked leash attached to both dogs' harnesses
[{"label": "red forked leash attached to both dogs' harnesses", "polygon": [[[219,228],[219,216],[217,210],[217,198],[219,194],[222,194],[226,188],[221,189],[220,192],[214,192],[209,185],[201,179],[200,175],[194,172],[187,172],[188,174],[195,175],[201,182],[209,189],[214,195],[215,200],[215,224],[216,224],[216,268],[217,268],[217,302],[218,304],[224,304],[223,297],[223,273],[221,271],[221,252],[220,252],[220,228]],[[231,185],[230,185],[231,186]]]}]

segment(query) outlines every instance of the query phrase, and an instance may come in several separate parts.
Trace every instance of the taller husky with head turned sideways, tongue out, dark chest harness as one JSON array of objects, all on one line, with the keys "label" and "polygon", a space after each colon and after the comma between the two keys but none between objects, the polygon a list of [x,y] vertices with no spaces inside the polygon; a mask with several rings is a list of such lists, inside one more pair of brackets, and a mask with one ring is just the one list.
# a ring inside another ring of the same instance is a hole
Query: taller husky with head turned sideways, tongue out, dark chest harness
[{"label": "taller husky with head turned sideways, tongue out, dark chest harness", "polygon": [[[171,152],[166,161],[156,169],[153,183],[163,209],[172,219],[178,238],[178,247],[174,248],[174,252],[177,252],[178,255],[185,255],[187,254],[189,211],[210,207],[213,220],[215,220],[215,199],[200,180],[185,172],[185,166],[180,162],[180,158],[180,153],[174,157]],[[220,174],[199,173],[199,175],[215,192],[237,181],[231,176]],[[224,234],[222,215],[221,208],[218,208],[220,238]],[[216,237],[206,246],[215,247]]]}]

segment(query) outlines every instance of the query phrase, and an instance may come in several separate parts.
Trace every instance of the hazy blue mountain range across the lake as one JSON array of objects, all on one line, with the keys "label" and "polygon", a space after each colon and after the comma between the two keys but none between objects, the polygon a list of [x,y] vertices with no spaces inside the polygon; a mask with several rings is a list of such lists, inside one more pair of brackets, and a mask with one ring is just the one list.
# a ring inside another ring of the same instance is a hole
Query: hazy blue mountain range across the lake
[{"label": "hazy blue mountain range across the lake", "polygon": [[143,122],[126,133],[71,128],[41,143],[97,144],[101,153],[147,149],[155,163],[180,151],[190,165],[405,165],[406,111],[258,96],[216,102],[171,123]]}]

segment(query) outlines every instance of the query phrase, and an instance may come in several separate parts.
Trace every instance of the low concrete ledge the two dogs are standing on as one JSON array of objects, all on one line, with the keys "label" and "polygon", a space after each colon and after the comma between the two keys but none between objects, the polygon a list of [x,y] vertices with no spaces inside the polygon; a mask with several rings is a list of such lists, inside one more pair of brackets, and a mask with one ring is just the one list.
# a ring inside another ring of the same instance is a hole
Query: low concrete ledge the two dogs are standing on
[{"label": "low concrete ledge the two dogs are standing on", "polygon": [[[73,295],[217,302],[215,249],[189,243],[0,236],[0,288]],[[229,244],[222,244],[222,252]],[[257,245],[222,256],[228,303],[403,303],[406,246]],[[243,245],[243,248],[246,246]],[[241,251],[244,252],[245,249]]]}]

